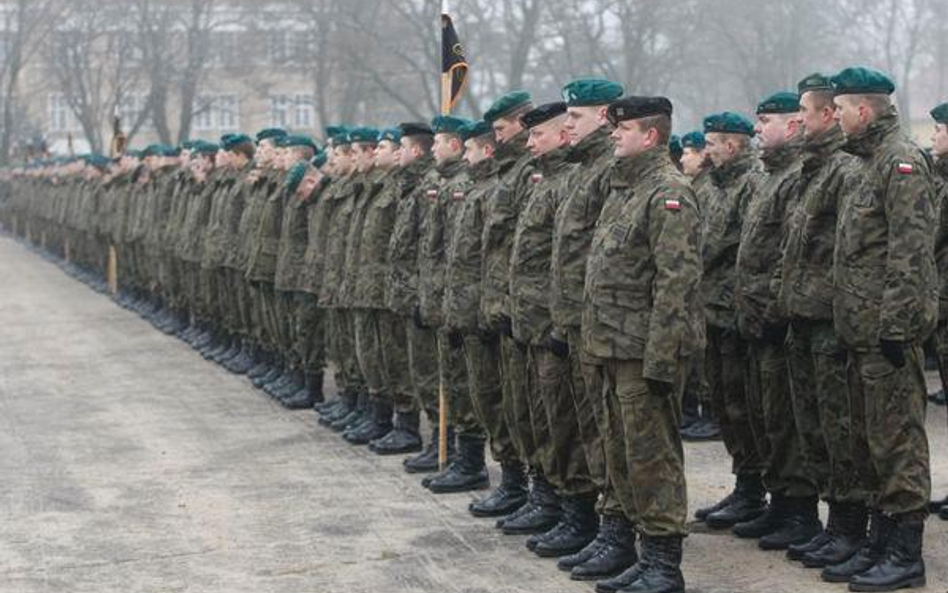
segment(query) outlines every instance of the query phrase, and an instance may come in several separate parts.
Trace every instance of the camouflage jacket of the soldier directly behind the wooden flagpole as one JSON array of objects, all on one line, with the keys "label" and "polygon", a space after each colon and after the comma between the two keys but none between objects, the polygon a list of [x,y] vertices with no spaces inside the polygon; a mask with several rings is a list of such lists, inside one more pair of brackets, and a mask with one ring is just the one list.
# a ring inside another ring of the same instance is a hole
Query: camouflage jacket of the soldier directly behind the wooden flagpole
[{"label": "camouflage jacket of the soldier directly behind the wooden flagpole", "polygon": [[457,213],[471,188],[467,165],[460,158],[438,165],[425,176],[422,189],[430,205],[422,219],[418,246],[418,312],[430,327],[444,325],[441,305],[447,267],[447,247],[454,234]]}]

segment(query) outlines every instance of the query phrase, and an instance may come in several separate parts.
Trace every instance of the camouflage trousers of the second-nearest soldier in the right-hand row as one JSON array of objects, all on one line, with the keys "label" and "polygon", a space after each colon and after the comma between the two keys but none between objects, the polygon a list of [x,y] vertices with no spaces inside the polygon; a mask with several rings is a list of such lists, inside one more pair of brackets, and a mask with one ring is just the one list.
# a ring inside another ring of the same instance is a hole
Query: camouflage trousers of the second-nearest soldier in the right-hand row
[{"label": "camouflage trousers of the second-nearest soldier in the right-hand row", "polygon": [[823,500],[865,502],[852,457],[846,352],[833,322],[794,320],[787,346],[793,418],[807,474]]}]

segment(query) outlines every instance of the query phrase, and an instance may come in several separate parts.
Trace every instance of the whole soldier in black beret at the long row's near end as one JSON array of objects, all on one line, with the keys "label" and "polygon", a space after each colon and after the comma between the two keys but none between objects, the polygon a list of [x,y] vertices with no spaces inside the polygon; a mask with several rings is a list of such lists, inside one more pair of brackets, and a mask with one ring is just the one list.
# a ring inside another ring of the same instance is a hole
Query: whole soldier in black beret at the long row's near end
[{"label": "whole soldier in black beret at the long row's near end", "polygon": [[586,266],[582,349],[603,385],[609,477],[621,453],[630,488],[615,495],[643,542],[638,563],[604,583],[683,593],[681,394],[688,357],[704,347],[698,210],[669,159],[671,102],[628,97],[608,113],[617,161]]}]

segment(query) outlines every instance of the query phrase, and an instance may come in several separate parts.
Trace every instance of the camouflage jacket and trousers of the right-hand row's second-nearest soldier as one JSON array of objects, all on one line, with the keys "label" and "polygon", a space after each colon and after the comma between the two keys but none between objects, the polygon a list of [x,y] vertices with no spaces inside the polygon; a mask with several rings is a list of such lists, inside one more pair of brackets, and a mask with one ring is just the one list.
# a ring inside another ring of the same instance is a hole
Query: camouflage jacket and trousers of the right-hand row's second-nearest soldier
[{"label": "camouflage jacket and trousers of the right-hand row's second-nearest soldier", "polygon": [[854,158],[842,152],[838,127],[807,141],[800,198],[790,220],[780,282],[790,318],[788,354],[793,417],[807,473],[824,500],[865,501],[850,443],[846,353],[833,329],[836,216],[852,187]]}]

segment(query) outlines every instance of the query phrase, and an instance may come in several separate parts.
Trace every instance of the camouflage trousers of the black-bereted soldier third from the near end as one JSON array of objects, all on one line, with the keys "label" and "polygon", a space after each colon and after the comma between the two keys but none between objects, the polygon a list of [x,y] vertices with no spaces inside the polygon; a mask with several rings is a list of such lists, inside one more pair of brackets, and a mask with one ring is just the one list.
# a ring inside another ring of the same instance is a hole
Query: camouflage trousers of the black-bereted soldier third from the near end
[{"label": "camouflage trousers of the black-bereted soldier third from the near end", "polygon": [[533,438],[544,475],[561,496],[595,495],[599,489],[586,464],[580,438],[569,358],[560,358],[545,346],[531,345],[527,347],[527,363]]}]

